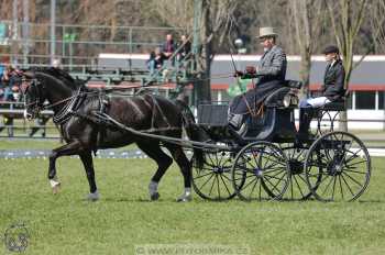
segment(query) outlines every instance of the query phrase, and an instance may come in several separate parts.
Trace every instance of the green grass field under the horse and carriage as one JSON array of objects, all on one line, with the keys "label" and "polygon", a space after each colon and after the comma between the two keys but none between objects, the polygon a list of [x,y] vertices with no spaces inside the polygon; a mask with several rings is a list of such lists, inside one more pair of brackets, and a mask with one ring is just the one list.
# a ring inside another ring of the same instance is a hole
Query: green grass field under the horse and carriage
[{"label": "green grass field under the horse and carriage", "polygon": [[[0,141],[0,149],[56,145]],[[135,254],[145,244],[222,244],[246,247],[246,254],[385,254],[384,158],[373,158],[370,187],[351,203],[218,203],[198,196],[176,203],[183,181],[175,165],[160,186],[161,200],[150,202],[155,165],[148,159],[96,159],[101,200],[88,202],[79,159],[58,159],[63,188],[55,196],[47,165],[0,159],[0,231],[24,222],[31,235],[25,254]],[[10,252],[0,246],[0,254]]]}]

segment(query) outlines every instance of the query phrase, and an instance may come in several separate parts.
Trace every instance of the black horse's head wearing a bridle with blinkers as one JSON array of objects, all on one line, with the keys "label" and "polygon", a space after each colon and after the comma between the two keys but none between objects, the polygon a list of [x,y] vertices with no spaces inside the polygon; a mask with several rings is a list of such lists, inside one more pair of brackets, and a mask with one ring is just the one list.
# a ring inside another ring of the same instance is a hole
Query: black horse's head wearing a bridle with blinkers
[{"label": "black horse's head wearing a bridle with blinkers", "polygon": [[24,118],[31,120],[38,115],[46,99],[44,85],[37,79],[34,71],[24,71],[21,86],[24,96]]}]

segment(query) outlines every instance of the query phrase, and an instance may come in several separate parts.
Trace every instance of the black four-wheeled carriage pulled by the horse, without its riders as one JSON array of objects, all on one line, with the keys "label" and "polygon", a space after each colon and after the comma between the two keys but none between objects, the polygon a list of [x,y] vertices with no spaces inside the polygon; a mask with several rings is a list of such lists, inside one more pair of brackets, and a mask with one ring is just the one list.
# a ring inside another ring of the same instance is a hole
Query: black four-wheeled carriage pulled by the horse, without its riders
[{"label": "black four-wheeled carriage pulled by the horse, without its riders", "polygon": [[371,158],[353,134],[334,131],[343,100],[317,109],[315,135],[296,142],[296,91],[288,81],[250,114],[240,136],[228,126],[228,103],[198,107],[198,124],[208,134],[205,164],[194,166],[195,191],[209,200],[238,196],[251,200],[352,201],[369,185]]}]

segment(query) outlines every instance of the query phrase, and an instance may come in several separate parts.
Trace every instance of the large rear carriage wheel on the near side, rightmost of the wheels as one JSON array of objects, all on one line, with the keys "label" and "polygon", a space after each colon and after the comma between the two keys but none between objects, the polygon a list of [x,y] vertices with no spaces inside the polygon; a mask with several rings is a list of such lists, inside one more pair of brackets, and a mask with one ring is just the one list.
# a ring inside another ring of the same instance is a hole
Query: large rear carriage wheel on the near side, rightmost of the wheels
[{"label": "large rear carriage wheel on the near side, rightmost of the wheels", "polygon": [[[311,145],[305,170],[306,180],[316,199],[353,201],[369,185],[371,157],[356,136],[346,132],[331,132]],[[317,182],[319,179],[321,180]]]}]

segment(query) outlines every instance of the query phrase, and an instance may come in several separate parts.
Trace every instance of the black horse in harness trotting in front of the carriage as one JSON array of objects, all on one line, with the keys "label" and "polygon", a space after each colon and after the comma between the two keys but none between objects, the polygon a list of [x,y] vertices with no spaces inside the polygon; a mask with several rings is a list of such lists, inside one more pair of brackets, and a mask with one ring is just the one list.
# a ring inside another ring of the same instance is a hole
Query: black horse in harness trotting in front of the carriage
[{"label": "black horse in harness trotting in front of the carriage", "polygon": [[[50,155],[48,179],[54,192],[58,191],[61,185],[56,176],[56,159],[61,156],[79,155],[90,187],[88,199],[99,199],[92,152],[136,143],[157,164],[157,170],[148,186],[150,198],[158,199],[157,185],[174,158],[182,170],[185,186],[178,201],[191,199],[191,163],[180,145],[134,135],[97,117],[97,113],[106,113],[129,127],[169,137],[182,137],[185,127],[189,138],[196,140],[199,132],[195,129],[194,115],[182,101],[173,102],[152,95],[108,97],[100,91],[88,89],[82,82],[56,68],[26,70],[24,78],[22,87],[25,118],[34,119],[43,108],[51,108],[54,111],[53,120],[61,126],[66,142]],[[45,101],[50,104],[44,106]],[[169,151],[173,158],[162,151],[161,145]],[[195,158],[201,158],[200,152],[195,149],[195,153],[198,154]]]}]

